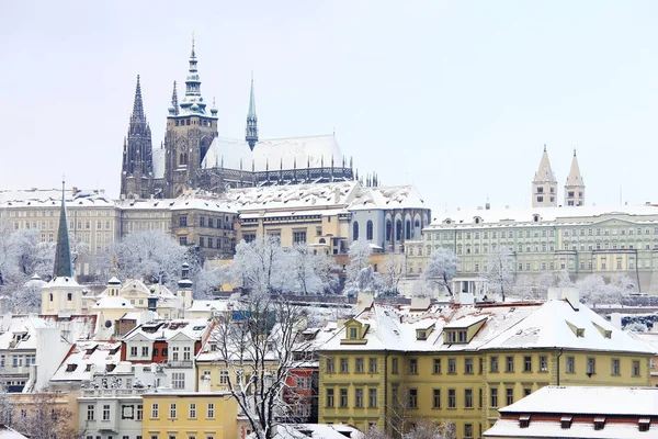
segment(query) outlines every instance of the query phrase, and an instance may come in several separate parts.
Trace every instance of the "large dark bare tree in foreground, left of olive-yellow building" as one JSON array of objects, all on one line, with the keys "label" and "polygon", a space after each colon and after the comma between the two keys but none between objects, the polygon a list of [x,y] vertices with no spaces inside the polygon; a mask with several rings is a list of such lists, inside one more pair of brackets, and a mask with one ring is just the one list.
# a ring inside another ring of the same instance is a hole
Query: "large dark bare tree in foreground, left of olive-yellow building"
[{"label": "large dark bare tree in foreground, left of olive-yellow building", "polygon": [[294,417],[282,394],[291,390],[291,369],[310,356],[313,346],[298,337],[305,316],[288,302],[252,294],[219,317],[209,337],[215,361],[258,439],[271,439],[275,427]]}]

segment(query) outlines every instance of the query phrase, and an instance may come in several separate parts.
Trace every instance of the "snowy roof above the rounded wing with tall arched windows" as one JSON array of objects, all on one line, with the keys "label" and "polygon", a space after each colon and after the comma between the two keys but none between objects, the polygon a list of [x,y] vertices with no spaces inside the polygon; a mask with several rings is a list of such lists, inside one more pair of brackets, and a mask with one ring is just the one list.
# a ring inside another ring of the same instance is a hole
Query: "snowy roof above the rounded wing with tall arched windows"
[{"label": "snowy roof above the rounded wing with tall arched windows", "polygon": [[349,206],[350,211],[371,209],[423,209],[424,201],[412,185],[383,185],[360,188]]}]

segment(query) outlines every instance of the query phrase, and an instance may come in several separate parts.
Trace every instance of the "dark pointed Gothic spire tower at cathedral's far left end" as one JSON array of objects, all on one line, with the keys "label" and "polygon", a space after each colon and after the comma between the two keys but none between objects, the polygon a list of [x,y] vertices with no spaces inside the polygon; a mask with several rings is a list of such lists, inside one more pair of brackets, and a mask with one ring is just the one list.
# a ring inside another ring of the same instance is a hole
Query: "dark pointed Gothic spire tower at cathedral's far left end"
[{"label": "dark pointed Gothic spire tower at cathedral's far left end", "polygon": [[128,136],[124,139],[121,196],[145,199],[151,193],[154,193],[152,144],[150,127],[144,113],[139,75],[137,75]]}]

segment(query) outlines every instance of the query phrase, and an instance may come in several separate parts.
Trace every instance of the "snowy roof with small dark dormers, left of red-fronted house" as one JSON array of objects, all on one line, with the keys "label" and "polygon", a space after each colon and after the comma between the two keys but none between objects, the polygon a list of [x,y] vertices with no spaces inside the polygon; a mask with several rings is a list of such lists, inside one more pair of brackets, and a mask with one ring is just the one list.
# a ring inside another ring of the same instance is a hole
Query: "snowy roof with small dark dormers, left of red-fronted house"
[{"label": "snowy roof with small dark dormers, left of red-fronted house", "polygon": [[121,341],[80,341],[64,359],[50,381],[91,381],[94,372],[114,369],[121,362]]}]

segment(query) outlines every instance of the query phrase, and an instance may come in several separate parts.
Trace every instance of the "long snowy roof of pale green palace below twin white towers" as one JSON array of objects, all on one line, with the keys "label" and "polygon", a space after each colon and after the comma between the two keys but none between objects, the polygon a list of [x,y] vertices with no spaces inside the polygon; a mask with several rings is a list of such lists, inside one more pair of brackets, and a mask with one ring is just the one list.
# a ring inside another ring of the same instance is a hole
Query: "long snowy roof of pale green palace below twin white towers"
[{"label": "long snowy roof of pale green palace below twin white towers", "polygon": [[[441,212],[439,210],[434,212]],[[534,222],[534,215],[540,216],[540,222]],[[427,229],[442,228],[450,219],[450,226],[474,226],[475,218],[480,221],[477,227],[499,226],[501,222],[511,224],[536,224],[538,226],[560,223],[598,223],[608,216],[626,216],[632,222],[658,223],[658,206],[651,204],[622,205],[622,206],[563,206],[563,207],[502,207],[502,209],[463,209],[441,214],[435,214]]]}]

